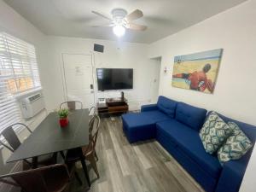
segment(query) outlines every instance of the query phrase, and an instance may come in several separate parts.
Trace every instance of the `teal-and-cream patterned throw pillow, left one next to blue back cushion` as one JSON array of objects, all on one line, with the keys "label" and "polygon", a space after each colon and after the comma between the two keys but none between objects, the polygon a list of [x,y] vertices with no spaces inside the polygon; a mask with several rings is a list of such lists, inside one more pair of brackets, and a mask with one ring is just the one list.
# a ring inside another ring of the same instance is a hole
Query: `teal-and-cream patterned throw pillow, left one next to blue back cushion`
[{"label": "teal-and-cream patterned throw pillow, left one next to blue back cushion", "polygon": [[230,137],[230,134],[231,130],[229,125],[215,112],[208,115],[200,131],[201,142],[209,154],[216,152],[227,137]]}]

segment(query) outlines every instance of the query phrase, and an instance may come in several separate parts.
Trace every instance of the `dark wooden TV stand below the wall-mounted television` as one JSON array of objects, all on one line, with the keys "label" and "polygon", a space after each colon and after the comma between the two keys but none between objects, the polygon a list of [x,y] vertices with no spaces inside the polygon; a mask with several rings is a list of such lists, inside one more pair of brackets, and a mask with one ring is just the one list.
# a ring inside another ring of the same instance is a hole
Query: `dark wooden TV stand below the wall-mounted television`
[{"label": "dark wooden TV stand below the wall-mounted television", "polygon": [[127,99],[108,98],[106,103],[97,103],[98,114],[127,113],[129,109]]}]

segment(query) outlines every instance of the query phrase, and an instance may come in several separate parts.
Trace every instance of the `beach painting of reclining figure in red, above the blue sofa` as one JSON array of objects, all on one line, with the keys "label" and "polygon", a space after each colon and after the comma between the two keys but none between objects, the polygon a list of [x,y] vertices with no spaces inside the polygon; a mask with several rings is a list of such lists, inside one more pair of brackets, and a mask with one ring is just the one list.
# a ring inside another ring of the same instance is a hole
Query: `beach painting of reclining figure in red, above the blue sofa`
[{"label": "beach painting of reclining figure in red, above the blue sofa", "polygon": [[223,49],[174,57],[172,86],[212,93]]}]

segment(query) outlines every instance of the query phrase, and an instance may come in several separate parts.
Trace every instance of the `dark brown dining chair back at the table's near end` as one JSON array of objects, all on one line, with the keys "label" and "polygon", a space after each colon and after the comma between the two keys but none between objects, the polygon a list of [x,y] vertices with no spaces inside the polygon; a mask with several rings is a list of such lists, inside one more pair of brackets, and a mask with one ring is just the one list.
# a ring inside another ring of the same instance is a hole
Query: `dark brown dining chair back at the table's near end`
[{"label": "dark brown dining chair back at the table's near end", "polygon": [[70,167],[71,170],[69,170],[65,164],[55,164],[23,172],[9,173],[0,176],[0,182],[20,187],[22,192],[69,191],[73,167]]}]

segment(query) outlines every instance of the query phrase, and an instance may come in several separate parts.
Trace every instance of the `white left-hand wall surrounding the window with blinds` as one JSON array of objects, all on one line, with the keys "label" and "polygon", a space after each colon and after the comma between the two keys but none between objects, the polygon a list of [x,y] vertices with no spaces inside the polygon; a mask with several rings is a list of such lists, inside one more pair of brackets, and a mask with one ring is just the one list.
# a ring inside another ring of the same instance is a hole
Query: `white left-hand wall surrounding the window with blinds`
[{"label": "white left-hand wall surrounding the window with blinds", "polygon": [[[7,32],[10,35],[15,36],[16,38],[20,38],[25,40],[30,44],[34,44],[37,50],[38,55],[38,67],[39,73],[42,81],[42,85],[44,87],[44,96],[49,96],[49,92],[47,91],[47,87],[49,85],[49,79],[46,77],[45,73],[48,71],[48,52],[46,49],[46,36],[37,28],[32,26],[27,20],[18,15],[14,9],[11,9],[6,3],[0,0],[0,32]],[[47,103],[48,104],[48,103]],[[38,116],[34,119],[31,119],[29,122],[26,122],[32,130],[37,127],[38,123],[44,119],[45,111],[39,113]],[[20,133],[20,140],[22,141],[25,137],[27,137],[28,132],[22,131]],[[9,151],[6,148],[0,149],[0,174],[8,173],[14,164],[5,164],[5,160],[9,157]],[[6,188],[3,187],[3,183],[0,184],[0,190],[7,191]]]}]

